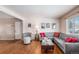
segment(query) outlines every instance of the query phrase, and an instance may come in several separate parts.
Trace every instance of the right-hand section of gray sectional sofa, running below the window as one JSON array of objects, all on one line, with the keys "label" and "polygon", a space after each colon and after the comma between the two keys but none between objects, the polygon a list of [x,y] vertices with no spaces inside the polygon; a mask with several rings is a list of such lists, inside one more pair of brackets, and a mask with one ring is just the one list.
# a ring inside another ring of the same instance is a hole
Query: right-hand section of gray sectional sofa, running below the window
[{"label": "right-hand section of gray sectional sofa, running below the window", "polygon": [[59,38],[54,37],[54,42],[66,54],[79,54],[79,42],[65,42],[66,37],[75,37],[79,40],[77,35],[60,33]]}]

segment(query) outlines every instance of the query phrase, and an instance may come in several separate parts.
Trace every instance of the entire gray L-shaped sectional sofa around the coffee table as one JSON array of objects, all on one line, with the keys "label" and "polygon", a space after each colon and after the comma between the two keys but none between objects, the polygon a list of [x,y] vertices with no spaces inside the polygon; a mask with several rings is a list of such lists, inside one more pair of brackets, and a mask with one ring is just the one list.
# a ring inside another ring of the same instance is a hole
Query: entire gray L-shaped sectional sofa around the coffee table
[{"label": "entire gray L-shaped sectional sofa around the coffee table", "polygon": [[[62,50],[63,53],[79,54],[79,36],[78,35],[60,33],[60,36],[58,38],[54,37],[52,32],[46,32],[45,35],[51,41],[56,43],[56,45]],[[78,38],[78,42],[65,42],[66,37]],[[43,38],[39,35],[39,39],[41,41]]]}]

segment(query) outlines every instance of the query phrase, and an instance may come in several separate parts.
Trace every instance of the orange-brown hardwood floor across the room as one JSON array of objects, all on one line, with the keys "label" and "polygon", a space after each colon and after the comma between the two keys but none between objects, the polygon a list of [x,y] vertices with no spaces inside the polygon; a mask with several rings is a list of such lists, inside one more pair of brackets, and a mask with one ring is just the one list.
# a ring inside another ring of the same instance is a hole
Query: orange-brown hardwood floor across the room
[{"label": "orange-brown hardwood floor across the room", "polygon": [[42,52],[40,41],[24,45],[22,40],[0,40],[0,54],[53,54],[53,51]]}]

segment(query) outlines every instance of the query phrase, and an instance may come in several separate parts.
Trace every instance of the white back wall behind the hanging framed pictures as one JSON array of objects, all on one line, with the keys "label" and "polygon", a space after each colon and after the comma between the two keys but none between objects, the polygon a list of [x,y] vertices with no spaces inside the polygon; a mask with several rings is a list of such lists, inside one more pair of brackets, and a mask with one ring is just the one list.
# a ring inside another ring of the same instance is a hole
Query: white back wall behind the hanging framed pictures
[{"label": "white back wall behind the hanging framed pictures", "polygon": [[[31,28],[28,28],[28,23],[32,24]],[[56,29],[46,28],[41,29],[41,23],[56,23]],[[50,19],[44,17],[28,17],[26,20],[23,21],[23,32],[32,32],[35,33],[36,27],[38,27],[39,32],[54,32],[59,31],[59,20],[57,19]]]}]

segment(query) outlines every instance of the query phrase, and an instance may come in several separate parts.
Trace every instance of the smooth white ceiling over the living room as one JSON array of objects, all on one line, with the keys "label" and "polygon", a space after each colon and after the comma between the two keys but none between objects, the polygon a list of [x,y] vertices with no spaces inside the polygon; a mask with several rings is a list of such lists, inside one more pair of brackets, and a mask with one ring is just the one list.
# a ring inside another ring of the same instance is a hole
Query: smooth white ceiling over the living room
[{"label": "smooth white ceiling over the living room", "polygon": [[24,18],[30,16],[58,18],[76,7],[76,5],[7,5],[4,7]]}]

